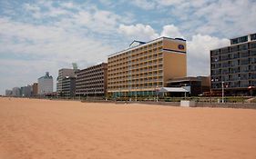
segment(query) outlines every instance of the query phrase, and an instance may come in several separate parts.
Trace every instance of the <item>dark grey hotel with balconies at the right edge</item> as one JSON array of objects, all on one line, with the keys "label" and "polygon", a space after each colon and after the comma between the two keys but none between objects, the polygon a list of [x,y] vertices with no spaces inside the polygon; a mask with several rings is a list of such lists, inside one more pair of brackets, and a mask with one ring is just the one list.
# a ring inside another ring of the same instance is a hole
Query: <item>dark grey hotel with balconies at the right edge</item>
[{"label": "dark grey hotel with balconies at the right edge", "polygon": [[226,94],[253,94],[256,86],[256,34],[230,39],[210,51],[211,88]]}]

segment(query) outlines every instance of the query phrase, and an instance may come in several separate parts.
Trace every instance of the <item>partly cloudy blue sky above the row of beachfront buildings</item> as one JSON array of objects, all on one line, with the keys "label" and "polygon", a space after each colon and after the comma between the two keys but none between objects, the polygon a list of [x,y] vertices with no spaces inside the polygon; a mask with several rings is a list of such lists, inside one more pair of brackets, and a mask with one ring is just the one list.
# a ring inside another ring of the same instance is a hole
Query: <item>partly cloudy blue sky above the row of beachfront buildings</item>
[{"label": "partly cloudy blue sky above the row of beachfront buildings", "polygon": [[0,94],[77,63],[83,69],[133,40],[187,40],[188,75],[210,75],[210,49],[255,33],[256,0],[0,0]]}]

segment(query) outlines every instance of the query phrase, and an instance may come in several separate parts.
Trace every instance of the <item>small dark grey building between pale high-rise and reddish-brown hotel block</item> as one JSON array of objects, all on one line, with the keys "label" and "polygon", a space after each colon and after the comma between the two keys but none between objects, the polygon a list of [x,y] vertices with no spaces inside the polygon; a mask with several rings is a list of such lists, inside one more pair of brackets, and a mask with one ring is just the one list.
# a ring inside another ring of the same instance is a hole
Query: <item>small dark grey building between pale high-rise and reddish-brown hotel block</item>
[{"label": "small dark grey building between pale high-rise and reddish-brown hotel block", "polygon": [[76,77],[66,76],[62,79],[61,96],[74,97],[76,95]]}]

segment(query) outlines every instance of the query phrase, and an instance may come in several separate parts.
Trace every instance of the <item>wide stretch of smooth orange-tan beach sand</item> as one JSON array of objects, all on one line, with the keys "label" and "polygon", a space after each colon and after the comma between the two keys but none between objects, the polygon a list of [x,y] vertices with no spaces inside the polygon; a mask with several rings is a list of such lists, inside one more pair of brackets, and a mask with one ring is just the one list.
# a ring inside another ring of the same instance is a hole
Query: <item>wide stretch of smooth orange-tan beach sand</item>
[{"label": "wide stretch of smooth orange-tan beach sand", "polygon": [[256,110],[0,98],[0,159],[256,158]]}]

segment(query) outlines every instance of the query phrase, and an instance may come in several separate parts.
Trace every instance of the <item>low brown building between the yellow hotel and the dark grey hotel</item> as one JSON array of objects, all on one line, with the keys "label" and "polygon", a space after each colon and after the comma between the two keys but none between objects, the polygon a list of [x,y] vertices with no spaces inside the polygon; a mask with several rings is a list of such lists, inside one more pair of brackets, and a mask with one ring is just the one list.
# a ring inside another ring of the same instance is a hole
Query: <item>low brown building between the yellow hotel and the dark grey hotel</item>
[{"label": "low brown building between the yellow hotel and the dark grey hotel", "polygon": [[[203,92],[210,92],[210,77],[209,76],[189,76],[172,78],[167,82],[168,87],[184,87],[189,86],[189,95],[197,96]],[[173,96],[183,96],[183,93],[171,93]]]}]

